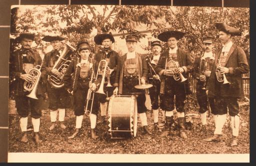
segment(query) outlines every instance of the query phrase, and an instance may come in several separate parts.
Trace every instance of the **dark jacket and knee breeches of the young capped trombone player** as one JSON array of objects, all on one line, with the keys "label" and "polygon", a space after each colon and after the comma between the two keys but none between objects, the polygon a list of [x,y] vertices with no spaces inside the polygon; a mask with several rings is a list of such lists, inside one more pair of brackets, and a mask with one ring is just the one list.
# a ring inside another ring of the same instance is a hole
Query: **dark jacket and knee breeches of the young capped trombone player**
[{"label": "dark jacket and knee breeches of the young capped trombone player", "polygon": [[[89,82],[91,74],[93,74],[93,72],[96,73],[96,68],[97,62],[95,60],[92,60],[92,62],[88,61],[87,63],[81,64],[80,59],[73,59],[69,64],[67,71],[63,77],[65,89],[70,89],[70,91],[73,90],[75,116],[83,115],[85,112],[84,106],[86,103],[87,92],[89,89]],[[71,79],[72,73],[74,77],[73,80]],[[90,109],[90,102],[88,108]],[[97,104],[96,102],[93,102],[91,113],[97,115],[97,111]]]}]

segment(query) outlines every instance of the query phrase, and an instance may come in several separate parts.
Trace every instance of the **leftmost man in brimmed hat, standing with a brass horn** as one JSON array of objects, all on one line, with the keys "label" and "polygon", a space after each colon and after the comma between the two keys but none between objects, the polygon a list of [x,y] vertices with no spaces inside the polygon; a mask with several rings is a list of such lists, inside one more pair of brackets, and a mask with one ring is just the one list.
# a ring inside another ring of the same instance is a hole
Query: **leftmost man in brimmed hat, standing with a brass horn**
[{"label": "leftmost man in brimmed hat, standing with a brass horn", "polygon": [[[36,92],[34,98],[27,97],[27,91],[24,89],[24,82],[29,83],[30,85],[35,84],[36,78],[29,74],[29,71],[33,69],[36,65],[41,65],[42,60],[38,52],[31,49],[31,44],[34,40],[34,34],[32,33],[20,33],[16,40],[21,44],[21,49],[18,49],[10,55],[10,62],[12,64],[10,70],[10,76],[14,79],[15,88],[15,105],[17,108],[18,115],[20,116],[20,128],[21,128],[21,142],[28,142],[27,136],[27,117],[28,111],[31,111],[31,121],[34,131],[34,140],[36,143],[40,142],[39,138],[39,126],[40,126],[40,117],[41,110],[40,106],[43,101],[43,92],[41,87],[41,82],[38,83],[38,86],[35,87]],[[41,76],[44,74],[42,73]],[[40,81],[40,78],[37,78]],[[29,105],[30,102],[30,105]]]}]

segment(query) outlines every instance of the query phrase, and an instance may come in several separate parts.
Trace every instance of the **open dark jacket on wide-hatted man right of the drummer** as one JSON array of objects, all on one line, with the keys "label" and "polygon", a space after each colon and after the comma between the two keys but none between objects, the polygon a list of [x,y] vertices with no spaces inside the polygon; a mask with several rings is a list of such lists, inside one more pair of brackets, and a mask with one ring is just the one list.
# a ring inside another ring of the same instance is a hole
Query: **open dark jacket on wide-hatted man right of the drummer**
[{"label": "open dark jacket on wide-hatted man right of the drummer", "polygon": [[[155,68],[155,71],[161,76],[161,88],[160,88],[161,94],[164,94],[164,89],[165,89],[164,88],[165,87],[164,80],[165,80],[166,76],[163,75],[163,71],[165,70],[165,62],[166,62],[168,55],[169,55],[169,50],[163,52],[160,55],[160,58],[158,60],[156,68]],[[185,78],[188,78],[188,73],[191,72],[193,69],[193,63],[192,63],[189,53],[178,48],[177,49],[177,58],[178,58],[179,66],[183,67],[185,69],[185,71],[182,73],[182,75]],[[186,94],[191,93],[189,79],[187,79],[184,82],[185,82]]]}]

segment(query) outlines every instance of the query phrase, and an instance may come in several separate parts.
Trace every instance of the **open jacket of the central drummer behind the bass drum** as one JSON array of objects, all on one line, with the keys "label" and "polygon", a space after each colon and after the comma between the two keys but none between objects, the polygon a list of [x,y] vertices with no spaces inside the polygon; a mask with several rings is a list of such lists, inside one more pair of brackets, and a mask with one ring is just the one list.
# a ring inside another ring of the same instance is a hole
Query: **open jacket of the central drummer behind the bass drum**
[{"label": "open jacket of the central drummer behind the bass drum", "polygon": [[[125,53],[123,56],[121,56],[117,63],[117,69],[116,69],[116,75],[115,75],[115,81],[113,86],[119,87],[118,91],[119,94],[122,94],[122,78],[123,78],[123,64],[126,60],[127,53]],[[136,52],[136,57],[138,58],[138,74],[140,78],[143,78],[145,81],[147,80],[147,64],[145,57],[140,55]]]}]

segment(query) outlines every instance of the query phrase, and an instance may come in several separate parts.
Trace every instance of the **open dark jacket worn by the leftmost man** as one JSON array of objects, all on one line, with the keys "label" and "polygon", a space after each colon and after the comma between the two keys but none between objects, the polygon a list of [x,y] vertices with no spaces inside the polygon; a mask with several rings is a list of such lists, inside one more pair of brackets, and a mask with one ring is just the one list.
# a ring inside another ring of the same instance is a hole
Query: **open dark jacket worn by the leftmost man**
[{"label": "open dark jacket worn by the leftmost man", "polygon": [[[41,65],[41,57],[39,55],[39,53],[36,50],[29,50],[29,55],[30,57],[34,60],[34,66],[36,65]],[[22,60],[22,51],[21,49],[14,51],[13,54],[10,55],[10,77],[13,81],[13,83],[11,84],[10,89],[14,90],[14,94],[15,95],[24,95],[24,94],[28,94],[27,92],[24,93],[24,80],[20,79],[20,75],[21,74],[25,74],[25,71],[23,70],[23,60]],[[41,72],[41,77],[44,76],[45,73]],[[40,78],[41,79],[41,78]],[[36,91],[36,96],[43,96],[43,92],[41,89],[41,80],[38,83],[37,86],[37,91]]]}]

